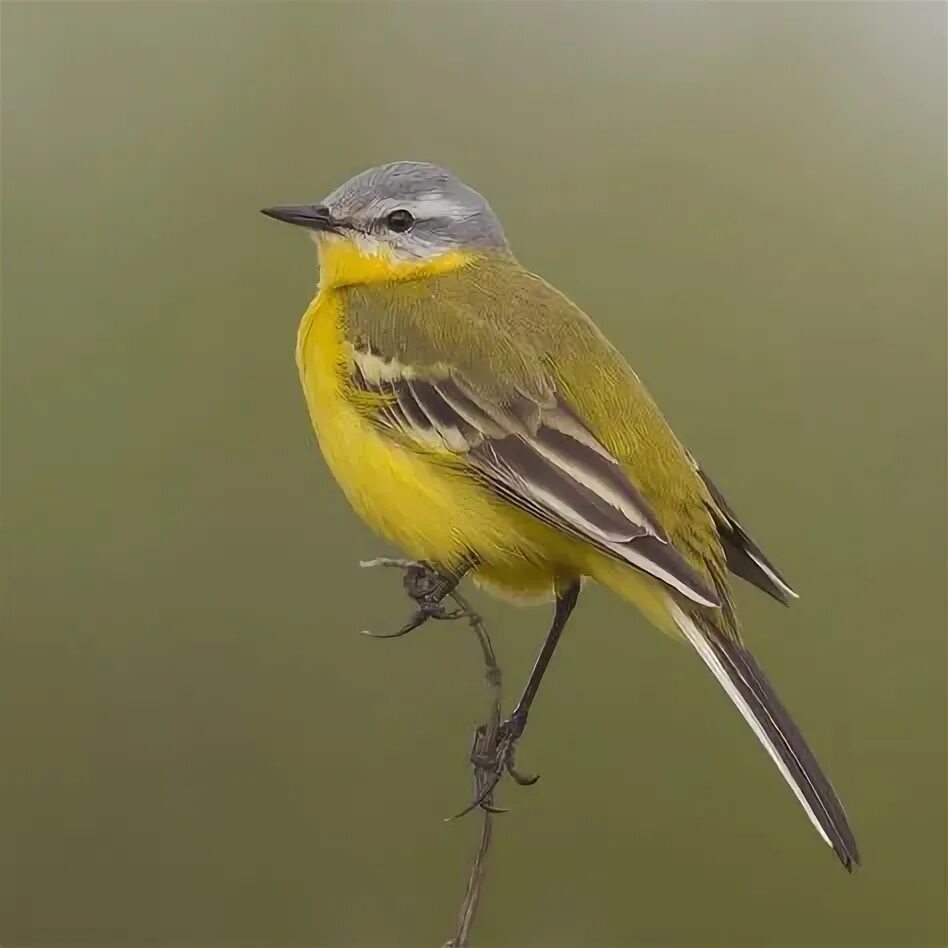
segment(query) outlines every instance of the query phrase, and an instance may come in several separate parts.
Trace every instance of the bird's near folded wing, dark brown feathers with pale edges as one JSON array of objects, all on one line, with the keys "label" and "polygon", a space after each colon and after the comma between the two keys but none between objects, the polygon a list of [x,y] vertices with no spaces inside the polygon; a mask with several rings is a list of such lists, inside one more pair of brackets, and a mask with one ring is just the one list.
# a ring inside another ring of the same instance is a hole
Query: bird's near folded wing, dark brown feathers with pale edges
[{"label": "bird's near folded wing, dark brown feathers with pale edges", "polygon": [[[456,367],[419,368],[352,348],[352,383],[376,425],[402,443],[458,456],[497,496],[538,520],[718,606],[619,461],[553,389],[479,390]],[[495,379],[496,382],[496,379]]]}]

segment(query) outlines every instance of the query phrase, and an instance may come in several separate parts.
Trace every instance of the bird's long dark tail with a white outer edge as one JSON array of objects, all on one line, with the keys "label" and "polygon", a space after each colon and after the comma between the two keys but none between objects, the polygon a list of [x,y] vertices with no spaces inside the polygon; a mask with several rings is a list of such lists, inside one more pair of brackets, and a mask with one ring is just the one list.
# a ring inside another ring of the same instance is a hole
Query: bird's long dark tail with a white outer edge
[{"label": "bird's long dark tail with a white outer edge", "polygon": [[810,822],[852,872],[859,865],[859,849],[843,805],[760,666],[737,642],[699,628],[677,603],[669,600],[669,608],[675,624],[773,758]]}]

